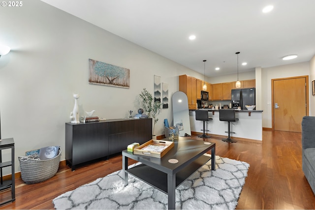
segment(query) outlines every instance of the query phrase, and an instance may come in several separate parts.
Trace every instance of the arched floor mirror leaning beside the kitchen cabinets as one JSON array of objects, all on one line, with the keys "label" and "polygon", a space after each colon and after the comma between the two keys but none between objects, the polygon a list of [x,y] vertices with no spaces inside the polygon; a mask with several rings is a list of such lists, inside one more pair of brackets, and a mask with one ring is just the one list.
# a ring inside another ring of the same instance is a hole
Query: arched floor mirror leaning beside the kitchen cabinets
[{"label": "arched floor mirror leaning beside the kitchen cabinets", "polygon": [[172,95],[173,123],[179,127],[179,136],[191,136],[187,95],[182,91]]}]

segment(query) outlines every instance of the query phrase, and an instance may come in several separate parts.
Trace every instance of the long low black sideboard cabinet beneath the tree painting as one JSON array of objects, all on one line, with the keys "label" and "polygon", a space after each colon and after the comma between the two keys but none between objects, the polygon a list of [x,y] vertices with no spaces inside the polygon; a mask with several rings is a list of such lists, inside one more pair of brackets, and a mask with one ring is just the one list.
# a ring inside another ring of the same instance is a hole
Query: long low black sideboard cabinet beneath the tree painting
[{"label": "long low black sideboard cabinet beneath the tree painting", "polygon": [[117,119],[65,123],[65,160],[75,170],[86,162],[126,150],[152,139],[152,119]]}]

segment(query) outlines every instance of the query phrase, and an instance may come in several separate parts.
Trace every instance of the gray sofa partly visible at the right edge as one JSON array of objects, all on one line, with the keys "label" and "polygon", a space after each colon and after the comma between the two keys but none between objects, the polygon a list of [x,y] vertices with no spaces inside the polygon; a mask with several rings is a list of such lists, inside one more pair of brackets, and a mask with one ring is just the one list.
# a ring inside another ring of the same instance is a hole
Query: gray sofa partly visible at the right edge
[{"label": "gray sofa partly visible at the right edge", "polygon": [[315,194],[315,117],[302,120],[302,169]]}]

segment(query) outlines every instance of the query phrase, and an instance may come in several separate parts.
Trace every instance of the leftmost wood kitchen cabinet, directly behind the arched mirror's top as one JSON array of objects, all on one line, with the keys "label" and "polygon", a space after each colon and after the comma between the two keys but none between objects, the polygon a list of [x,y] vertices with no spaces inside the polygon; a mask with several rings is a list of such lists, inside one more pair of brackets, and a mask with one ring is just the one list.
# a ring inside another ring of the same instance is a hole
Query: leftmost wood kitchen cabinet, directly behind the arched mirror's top
[{"label": "leftmost wood kitchen cabinet, directly behind the arched mirror's top", "polygon": [[189,75],[180,75],[179,91],[187,95],[189,110],[197,109],[197,79]]}]

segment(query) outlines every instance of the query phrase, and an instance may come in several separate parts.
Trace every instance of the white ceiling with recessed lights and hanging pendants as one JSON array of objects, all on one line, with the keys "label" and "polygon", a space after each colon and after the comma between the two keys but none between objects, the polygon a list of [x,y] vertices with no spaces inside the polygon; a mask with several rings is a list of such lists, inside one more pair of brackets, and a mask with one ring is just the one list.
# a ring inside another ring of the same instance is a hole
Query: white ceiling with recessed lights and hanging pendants
[{"label": "white ceiling with recessed lights and hanging pendants", "polygon": [[[202,74],[207,60],[210,77],[236,73],[236,52],[239,72],[315,55],[315,0],[42,1]],[[298,58],[282,60],[290,54]]]}]

